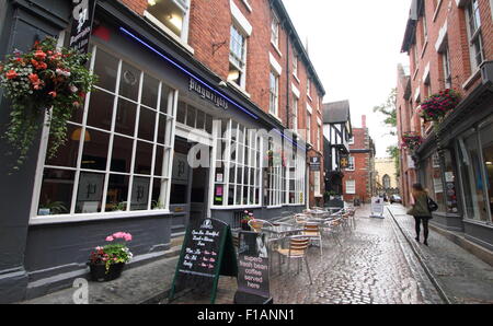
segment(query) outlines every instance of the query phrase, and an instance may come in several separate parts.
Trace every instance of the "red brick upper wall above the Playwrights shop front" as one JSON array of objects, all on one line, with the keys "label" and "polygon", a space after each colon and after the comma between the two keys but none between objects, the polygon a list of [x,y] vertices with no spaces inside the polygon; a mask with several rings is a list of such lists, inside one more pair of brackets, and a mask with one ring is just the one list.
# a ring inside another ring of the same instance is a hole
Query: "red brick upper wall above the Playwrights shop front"
[{"label": "red brick upper wall above the Playwrights shop front", "polygon": [[[147,0],[121,0],[139,15],[144,15],[147,9]],[[287,33],[280,22],[279,25],[279,45],[276,49],[271,44],[271,22],[273,9],[268,0],[251,1],[252,11],[250,11],[243,1],[234,0],[236,5],[246,18],[253,27],[252,35],[246,40],[246,86],[245,92],[250,101],[268,113],[270,107],[270,54],[274,56],[283,71],[279,78],[279,103],[278,118],[286,127],[293,126],[293,91],[291,83],[300,91],[298,101],[298,129],[306,129],[307,124],[307,104],[312,107],[311,114],[311,143],[317,148],[318,120],[322,119],[321,114],[321,90],[317,83],[311,81],[311,98],[307,96],[308,71],[302,60],[298,60],[298,79],[293,77],[293,60],[295,57],[295,47],[291,39],[287,39]],[[202,1],[191,0],[190,22],[188,22],[188,45],[194,49],[194,57],[204,66],[227,80],[229,71],[229,44],[230,26],[232,15],[230,0]],[[280,54],[277,51],[279,50]],[[300,54],[298,54],[300,55]],[[289,65],[287,67],[287,60]],[[289,72],[287,72],[289,70]],[[287,106],[289,101],[289,117]],[[320,110],[318,109],[320,106]],[[289,124],[288,124],[289,119]],[[303,138],[306,135],[301,135]],[[323,130],[320,129],[321,147],[323,148]],[[322,162],[323,166],[323,162]],[[321,176],[323,185],[323,175]],[[313,185],[310,174],[310,188]],[[310,191],[310,203],[314,203],[312,191]]]}]

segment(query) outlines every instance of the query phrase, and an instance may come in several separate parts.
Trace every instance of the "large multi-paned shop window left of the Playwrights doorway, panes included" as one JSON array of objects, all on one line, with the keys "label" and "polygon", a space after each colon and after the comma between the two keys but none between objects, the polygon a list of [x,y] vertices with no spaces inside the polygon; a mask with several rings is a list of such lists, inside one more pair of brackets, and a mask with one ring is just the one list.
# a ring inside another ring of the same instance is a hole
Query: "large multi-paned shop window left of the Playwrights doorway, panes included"
[{"label": "large multi-paned shop window left of the Playwrights doorway, panes included", "polygon": [[36,214],[167,209],[177,92],[96,46],[91,69],[99,83],[44,161]]}]

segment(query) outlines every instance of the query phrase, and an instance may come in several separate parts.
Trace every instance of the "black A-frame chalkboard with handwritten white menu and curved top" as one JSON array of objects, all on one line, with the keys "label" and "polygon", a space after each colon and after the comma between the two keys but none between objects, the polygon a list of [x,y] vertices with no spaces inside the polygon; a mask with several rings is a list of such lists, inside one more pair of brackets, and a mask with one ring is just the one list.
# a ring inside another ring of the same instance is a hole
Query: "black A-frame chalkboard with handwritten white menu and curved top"
[{"label": "black A-frame chalkboard with handwritten white menu and curved top", "polygon": [[186,229],[170,291],[170,302],[175,293],[193,289],[210,293],[210,303],[214,304],[220,275],[238,277],[230,226],[214,219],[192,222]]}]

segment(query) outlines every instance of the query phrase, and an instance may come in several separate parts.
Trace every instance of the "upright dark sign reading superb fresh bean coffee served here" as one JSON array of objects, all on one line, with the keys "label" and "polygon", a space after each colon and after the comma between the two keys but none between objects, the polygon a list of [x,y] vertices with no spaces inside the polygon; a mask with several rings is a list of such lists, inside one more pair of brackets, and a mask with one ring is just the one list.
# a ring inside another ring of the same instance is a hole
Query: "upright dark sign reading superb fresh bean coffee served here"
[{"label": "upright dark sign reading superb fresh bean coffee served here", "polygon": [[270,301],[266,240],[264,233],[240,232],[234,303],[261,304]]}]

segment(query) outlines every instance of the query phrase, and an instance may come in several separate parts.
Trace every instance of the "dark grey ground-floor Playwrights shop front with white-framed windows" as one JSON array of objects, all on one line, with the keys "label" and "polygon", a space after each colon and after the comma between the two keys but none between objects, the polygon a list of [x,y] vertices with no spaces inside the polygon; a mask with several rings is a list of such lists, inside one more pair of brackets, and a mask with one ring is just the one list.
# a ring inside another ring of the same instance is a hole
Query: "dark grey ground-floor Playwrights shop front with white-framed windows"
[{"label": "dark grey ground-floor Playwrights shop front with white-framed windows", "polygon": [[67,142],[47,158],[44,127],[22,175],[2,170],[0,184],[12,186],[1,187],[0,302],[70,286],[114,232],[131,233],[136,266],[162,257],[191,220],[239,228],[245,209],[272,219],[306,207],[303,143],[147,24],[99,2],[88,62],[99,82],[68,120]]}]

